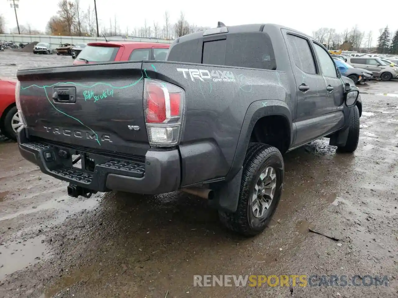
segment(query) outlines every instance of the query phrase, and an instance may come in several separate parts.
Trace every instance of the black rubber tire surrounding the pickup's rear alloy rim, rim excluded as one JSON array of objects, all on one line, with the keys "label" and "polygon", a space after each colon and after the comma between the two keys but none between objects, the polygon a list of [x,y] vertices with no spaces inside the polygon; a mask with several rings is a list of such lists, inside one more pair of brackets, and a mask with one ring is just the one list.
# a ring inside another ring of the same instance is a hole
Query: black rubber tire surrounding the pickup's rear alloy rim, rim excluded
[{"label": "black rubber tire surrounding the pickup's rear alloy rim, rim excluded", "polygon": [[[275,169],[275,194],[269,209],[261,217],[255,217],[252,210],[252,194],[261,172],[269,166]],[[250,144],[243,163],[238,208],[234,213],[219,211],[221,223],[243,236],[255,236],[262,232],[271,221],[279,203],[284,174],[283,157],[277,148],[261,143]]]}]

